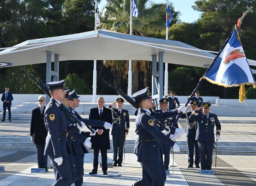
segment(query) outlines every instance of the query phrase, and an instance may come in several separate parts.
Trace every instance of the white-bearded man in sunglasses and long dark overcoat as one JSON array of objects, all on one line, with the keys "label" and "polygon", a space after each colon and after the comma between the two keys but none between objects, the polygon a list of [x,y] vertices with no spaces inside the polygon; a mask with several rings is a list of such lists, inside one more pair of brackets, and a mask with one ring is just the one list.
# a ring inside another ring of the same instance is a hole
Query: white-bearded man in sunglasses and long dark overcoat
[{"label": "white-bearded man in sunglasses and long dark overcoat", "polygon": [[43,155],[45,147],[45,139],[47,136],[47,131],[44,125],[44,110],[46,99],[43,95],[38,97],[38,107],[32,110],[31,122],[30,122],[30,138],[31,141],[36,145],[36,157],[38,168],[47,169],[47,156]]}]

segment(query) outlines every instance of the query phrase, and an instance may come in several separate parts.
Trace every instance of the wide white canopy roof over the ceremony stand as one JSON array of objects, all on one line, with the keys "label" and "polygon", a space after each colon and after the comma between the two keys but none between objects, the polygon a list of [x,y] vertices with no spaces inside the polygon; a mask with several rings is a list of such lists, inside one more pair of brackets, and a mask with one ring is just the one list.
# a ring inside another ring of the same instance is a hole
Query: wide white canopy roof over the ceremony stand
[{"label": "wide white canopy roof over the ceremony stand", "polygon": [[[100,29],[33,39],[0,52],[0,67],[46,63],[46,52],[65,60],[148,60],[164,51],[164,62],[197,67],[209,65],[215,55],[179,41],[147,38]],[[256,66],[256,61],[249,60]]]}]

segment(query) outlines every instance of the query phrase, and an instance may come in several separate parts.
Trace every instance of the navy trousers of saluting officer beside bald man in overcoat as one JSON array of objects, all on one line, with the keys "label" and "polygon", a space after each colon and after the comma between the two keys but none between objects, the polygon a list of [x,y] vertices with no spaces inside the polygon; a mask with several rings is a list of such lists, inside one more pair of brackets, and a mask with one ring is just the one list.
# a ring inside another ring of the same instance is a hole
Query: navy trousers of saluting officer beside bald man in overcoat
[{"label": "navy trousers of saluting officer beside bald man in overcoat", "polygon": [[[112,146],[113,146],[114,163],[122,164],[123,150],[124,150],[124,136],[112,135]],[[117,159],[117,154],[118,154],[118,159]]]}]

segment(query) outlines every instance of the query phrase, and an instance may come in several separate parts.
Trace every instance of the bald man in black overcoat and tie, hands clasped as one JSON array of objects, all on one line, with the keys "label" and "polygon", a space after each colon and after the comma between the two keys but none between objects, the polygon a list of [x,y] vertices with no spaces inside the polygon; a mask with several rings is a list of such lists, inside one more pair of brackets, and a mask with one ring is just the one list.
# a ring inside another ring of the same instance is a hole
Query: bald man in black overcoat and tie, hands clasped
[{"label": "bald man in black overcoat and tie, hands clasped", "polygon": [[[103,97],[97,99],[96,108],[91,108],[89,113],[89,119],[101,120],[105,122],[112,123],[112,113],[110,109],[104,107],[105,101]],[[109,129],[104,127],[92,127],[97,134],[91,137],[92,149],[93,149],[93,169],[89,174],[97,174],[98,171],[98,156],[101,150],[101,161],[102,161],[102,171],[104,175],[107,175],[107,149],[110,149],[109,140]]]}]

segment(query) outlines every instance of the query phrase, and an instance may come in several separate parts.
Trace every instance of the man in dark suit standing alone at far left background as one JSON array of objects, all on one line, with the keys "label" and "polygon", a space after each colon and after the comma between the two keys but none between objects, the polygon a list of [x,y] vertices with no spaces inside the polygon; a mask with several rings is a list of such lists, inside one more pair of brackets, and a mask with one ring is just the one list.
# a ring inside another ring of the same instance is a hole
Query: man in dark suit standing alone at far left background
[{"label": "man in dark suit standing alone at far left background", "polygon": [[9,92],[10,88],[8,86],[5,87],[5,92],[2,94],[2,102],[3,102],[3,119],[1,122],[5,121],[6,108],[8,109],[9,121],[11,122],[11,101],[13,100],[11,92]]}]

